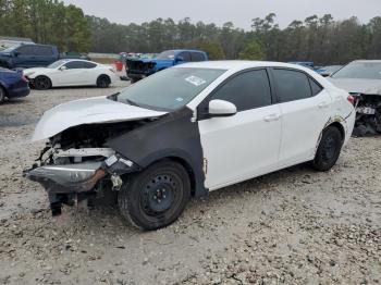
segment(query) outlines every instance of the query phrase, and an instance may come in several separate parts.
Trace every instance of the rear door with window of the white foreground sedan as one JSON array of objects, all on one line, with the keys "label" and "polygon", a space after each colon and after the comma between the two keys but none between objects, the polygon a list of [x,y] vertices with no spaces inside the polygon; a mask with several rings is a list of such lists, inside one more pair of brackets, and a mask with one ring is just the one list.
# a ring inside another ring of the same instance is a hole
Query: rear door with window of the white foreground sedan
[{"label": "rear door with window of the white foreground sedan", "polygon": [[280,163],[288,166],[310,160],[330,120],[331,96],[302,71],[272,69],[272,74],[282,112]]}]

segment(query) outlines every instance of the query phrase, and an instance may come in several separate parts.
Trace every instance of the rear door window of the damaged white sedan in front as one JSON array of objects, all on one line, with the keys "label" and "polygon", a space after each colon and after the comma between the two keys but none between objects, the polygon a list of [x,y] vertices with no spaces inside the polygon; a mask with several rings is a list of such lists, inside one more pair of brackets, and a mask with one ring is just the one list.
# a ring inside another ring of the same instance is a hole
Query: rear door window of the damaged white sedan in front
[{"label": "rear door window of the damaged white sedan in front", "polygon": [[311,88],[306,74],[291,70],[273,70],[281,103],[311,97]]}]

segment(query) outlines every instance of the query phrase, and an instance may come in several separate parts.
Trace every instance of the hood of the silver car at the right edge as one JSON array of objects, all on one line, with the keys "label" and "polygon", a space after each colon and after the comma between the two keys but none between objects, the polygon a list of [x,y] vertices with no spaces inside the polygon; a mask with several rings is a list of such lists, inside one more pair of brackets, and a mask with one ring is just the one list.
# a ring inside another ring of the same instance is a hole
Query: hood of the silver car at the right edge
[{"label": "hood of the silver car at the right edge", "polygon": [[348,92],[381,95],[381,79],[327,78],[333,85]]}]

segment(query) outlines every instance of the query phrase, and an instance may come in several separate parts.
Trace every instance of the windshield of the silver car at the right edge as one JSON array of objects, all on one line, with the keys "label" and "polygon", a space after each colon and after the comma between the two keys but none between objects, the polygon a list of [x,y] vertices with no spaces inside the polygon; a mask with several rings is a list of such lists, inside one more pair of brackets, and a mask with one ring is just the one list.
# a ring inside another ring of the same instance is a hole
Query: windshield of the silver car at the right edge
[{"label": "windshield of the silver car at the right edge", "polygon": [[333,74],[332,77],[381,79],[381,62],[352,62]]}]

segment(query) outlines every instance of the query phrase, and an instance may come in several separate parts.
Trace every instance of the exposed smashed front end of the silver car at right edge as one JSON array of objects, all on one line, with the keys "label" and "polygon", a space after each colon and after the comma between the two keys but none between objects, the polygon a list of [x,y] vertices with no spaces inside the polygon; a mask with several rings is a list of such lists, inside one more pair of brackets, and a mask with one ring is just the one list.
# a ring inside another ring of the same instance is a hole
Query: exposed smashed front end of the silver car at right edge
[{"label": "exposed smashed front end of the silver car at right edge", "polygon": [[381,95],[351,95],[356,107],[354,136],[381,134]]}]

